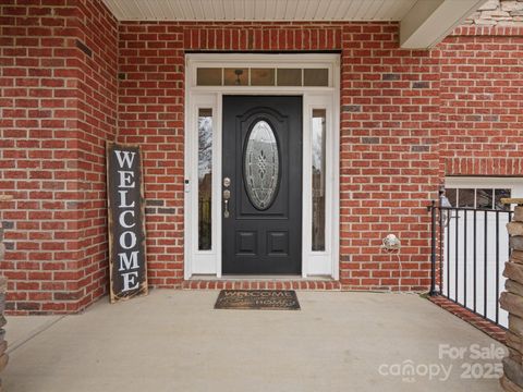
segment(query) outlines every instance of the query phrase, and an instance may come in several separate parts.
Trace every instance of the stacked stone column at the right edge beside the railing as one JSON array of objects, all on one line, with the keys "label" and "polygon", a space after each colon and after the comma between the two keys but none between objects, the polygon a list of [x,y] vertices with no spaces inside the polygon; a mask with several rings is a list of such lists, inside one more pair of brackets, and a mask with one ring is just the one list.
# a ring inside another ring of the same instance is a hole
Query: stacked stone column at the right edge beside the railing
[{"label": "stacked stone column at the right edge beside the railing", "polygon": [[504,265],[506,292],[501,293],[501,307],[509,313],[507,345],[509,356],[503,359],[501,387],[509,392],[523,392],[523,199],[518,203],[512,221],[507,223],[510,235],[510,260]]}]

